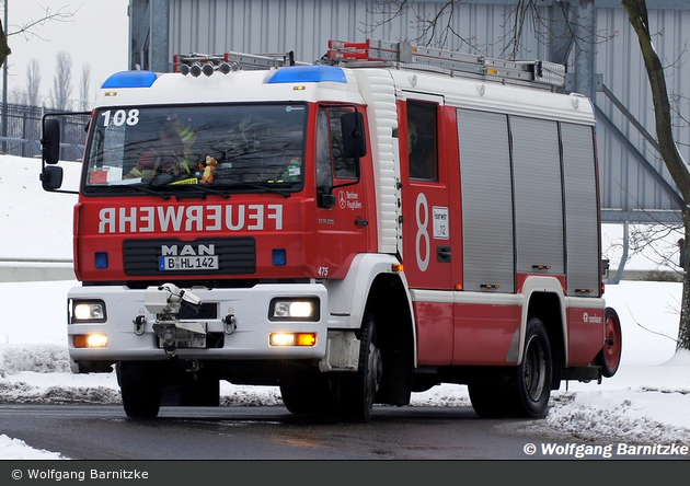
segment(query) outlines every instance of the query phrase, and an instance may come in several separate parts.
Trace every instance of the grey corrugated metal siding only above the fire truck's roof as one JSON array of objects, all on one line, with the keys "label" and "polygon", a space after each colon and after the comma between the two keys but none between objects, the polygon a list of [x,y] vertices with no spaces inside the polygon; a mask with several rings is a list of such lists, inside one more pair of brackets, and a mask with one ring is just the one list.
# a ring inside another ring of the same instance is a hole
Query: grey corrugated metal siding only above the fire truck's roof
[{"label": "grey corrugated metal siding only above the fire truck's roof", "polygon": [[[170,58],[173,54],[286,53],[297,60],[311,62],[327,49],[329,39],[386,40],[423,36],[412,28],[416,16],[428,16],[445,2],[415,3],[412,10],[386,25],[372,11],[370,1],[320,0],[170,0]],[[456,32],[467,32],[462,39],[449,37],[445,48],[502,57],[510,36],[506,15],[511,7],[456,5],[451,22]],[[544,10],[545,12],[545,10]],[[545,13],[544,13],[545,14]],[[378,25],[378,26],[377,26]],[[526,37],[533,37],[531,25]],[[545,59],[548,47],[522,46],[520,57]]]}]

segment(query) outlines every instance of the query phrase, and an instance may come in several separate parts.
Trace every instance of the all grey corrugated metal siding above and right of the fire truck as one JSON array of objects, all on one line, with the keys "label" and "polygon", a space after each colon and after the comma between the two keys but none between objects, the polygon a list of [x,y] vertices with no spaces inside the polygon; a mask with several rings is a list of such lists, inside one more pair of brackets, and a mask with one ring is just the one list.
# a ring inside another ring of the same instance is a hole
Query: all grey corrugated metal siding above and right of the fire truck
[{"label": "all grey corrugated metal siding above and right of the fire truck", "polygon": [[[212,53],[226,50],[245,53],[285,53],[294,50],[296,58],[314,61],[326,51],[330,38],[364,40],[367,37],[387,40],[411,39],[422,32],[412,27],[415,16],[437,12],[446,2],[415,2],[413,9],[383,26],[381,14],[371,12],[373,2],[361,0],[170,0],[170,56],[173,54]],[[649,4],[649,9],[654,5]],[[479,53],[488,57],[505,57],[510,37],[511,5],[456,4],[451,27],[465,40],[449,38],[446,48]],[[540,9],[547,16],[548,10]],[[687,101],[690,62],[685,53],[690,33],[690,10],[649,10],[651,31],[655,46],[668,68],[668,89],[678,96],[680,116],[690,119]],[[549,58],[549,47],[538,42],[533,24],[527,22],[518,57]],[[538,27],[542,28],[542,27]],[[597,8],[596,28],[600,43],[595,46],[597,73],[603,83],[654,135],[654,113],[646,72],[640,47],[628,15],[622,8]],[[539,33],[543,37],[543,32]],[[603,42],[609,35],[612,38]],[[572,71],[571,59],[568,70]],[[649,143],[602,93],[596,104],[612,119],[646,160],[663,176],[671,178]],[[686,160],[690,161],[690,128],[677,120],[677,141]],[[598,127],[602,207],[618,209],[674,209],[668,194],[630,152],[612,130]]]}]

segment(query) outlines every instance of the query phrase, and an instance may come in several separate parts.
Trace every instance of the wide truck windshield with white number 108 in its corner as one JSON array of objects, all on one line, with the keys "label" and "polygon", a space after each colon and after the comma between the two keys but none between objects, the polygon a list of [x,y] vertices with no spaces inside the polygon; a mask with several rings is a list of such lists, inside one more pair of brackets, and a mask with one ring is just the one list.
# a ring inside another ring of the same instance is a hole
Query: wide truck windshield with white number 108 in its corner
[{"label": "wide truck windshield with white number 108 in its corner", "polygon": [[299,190],[306,115],[301,104],[101,108],[92,120],[84,192],[195,184]]}]

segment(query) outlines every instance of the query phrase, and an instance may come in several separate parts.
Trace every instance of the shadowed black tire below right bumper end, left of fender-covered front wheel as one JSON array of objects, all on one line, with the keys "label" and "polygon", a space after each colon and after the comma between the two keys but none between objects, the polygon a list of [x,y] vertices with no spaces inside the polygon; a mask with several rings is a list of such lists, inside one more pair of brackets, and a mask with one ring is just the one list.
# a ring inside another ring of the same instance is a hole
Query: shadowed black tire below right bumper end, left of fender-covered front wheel
[{"label": "shadowed black tire below right bumper end, left of fender-covered front wheel", "polygon": [[322,377],[290,377],[280,381],[280,396],[295,415],[329,416],[336,412],[331,383]]}]

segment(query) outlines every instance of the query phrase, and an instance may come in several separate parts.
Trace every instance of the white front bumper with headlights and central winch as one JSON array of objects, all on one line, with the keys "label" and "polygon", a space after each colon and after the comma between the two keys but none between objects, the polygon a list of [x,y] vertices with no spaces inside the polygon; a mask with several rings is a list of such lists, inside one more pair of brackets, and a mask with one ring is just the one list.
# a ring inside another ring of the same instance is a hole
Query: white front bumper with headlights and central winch
[{"label": "white front bumper with headlights and central winch", "polygon": [[[177,347],[175,355],[189,360],[278,360],[322,359],[327,342],[327,292],[321,284],[257,285],[249,289],[192,289],[206,309],[204,315],[181,320],[182,326],[204,328],[204,347]],[[123,360],[170,359],[154,331],[157,315],[145,305],[145,289],[123,286],[74,287],[71,301],[102,301],[102,322],[68,324],[68,347],[76,362],[115,362]],[[319,313],[314,321],[269,319],[274,299],[315,299]],[[232,324],[228,324],[228,316]],[[186,323],[186,324],[185,324]],[[272,333],[314,333],[311,346],[272,346]],[[76,347],[77,336],[104,335],[105,347]],[[193,346],[199,346],[196,340]]]}]

